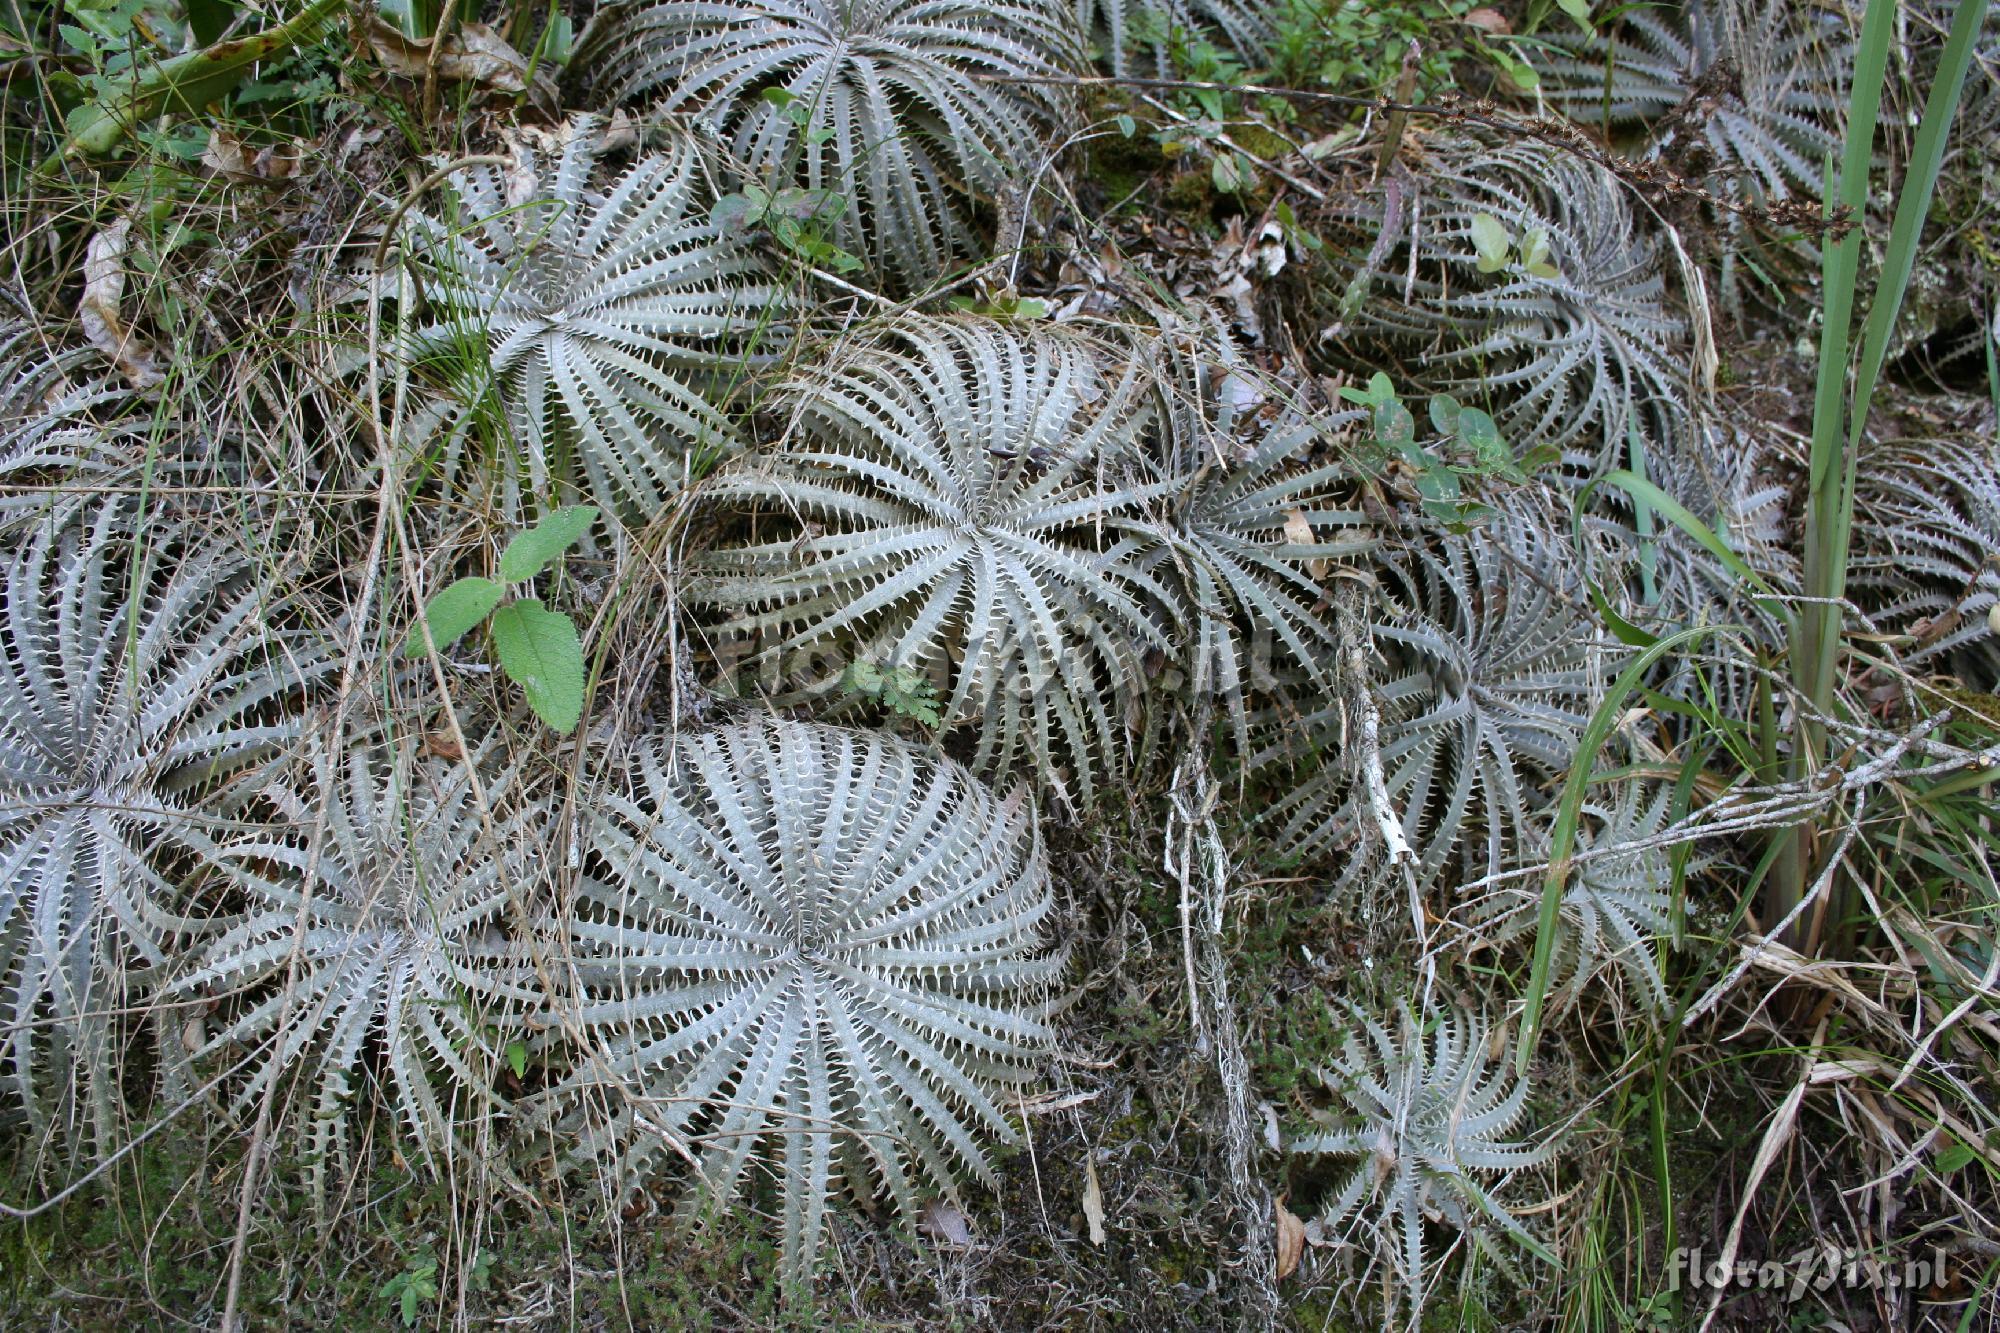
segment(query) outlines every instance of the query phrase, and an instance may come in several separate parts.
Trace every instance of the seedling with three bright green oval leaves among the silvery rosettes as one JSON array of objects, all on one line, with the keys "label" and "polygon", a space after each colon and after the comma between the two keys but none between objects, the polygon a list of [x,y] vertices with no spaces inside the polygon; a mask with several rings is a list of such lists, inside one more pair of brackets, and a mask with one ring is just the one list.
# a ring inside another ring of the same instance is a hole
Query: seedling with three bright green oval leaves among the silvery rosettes
[{"label": "seedling with three bright green oval leaves among the silvery rosettes", "polygon": [[[516,596],[506,604],[500,598],[508,584],[528,582],[562,558],[596,518],[592,504],[558,508],[506,544],[498,578],[460,578],[424,606],[424,624],[438,648],[490,620],[500,671],[522,689],[534,715],[562,735],[584,715],[584,642],[576,622],[534,596]],[[410,628],[404,656],[424,654],[424,624]]]}]

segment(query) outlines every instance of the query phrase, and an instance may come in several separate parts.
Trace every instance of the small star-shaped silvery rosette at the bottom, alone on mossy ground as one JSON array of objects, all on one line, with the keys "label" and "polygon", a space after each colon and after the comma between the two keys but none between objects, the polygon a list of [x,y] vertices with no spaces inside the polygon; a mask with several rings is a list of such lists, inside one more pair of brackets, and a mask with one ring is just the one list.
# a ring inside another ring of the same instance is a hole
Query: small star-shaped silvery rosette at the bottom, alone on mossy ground
[{"label": "small star-shaped silvery rosette at the bottom, alone on mossy ground", "polygon": [[[1496,1173],[1546,1163],[1552,1143],[1510,1135],[1522,1121],[1528,1083],[1510,1077],[1512,1051],[1490,1051],[1478,1015],[1446,1009],[1418,1027],[1398,1007],[1396,1031],[1350,1011],[1340,1057],[1320,1079],[1336,1109],[1324,1129],[1290,1143],[1294,1155],[1358,1157],[1326,1201],[1318,1225],[1328,1239],[1356,1237],[1384,1257],[1412,1303],[1424,1289],[1424,1225],[1438,1219],[1482,1247],[1490,1227],[1538,1249],[1538,1241],[1488,1189]],[[1366,1039],[1366,1041],[1364,1041]]]}]

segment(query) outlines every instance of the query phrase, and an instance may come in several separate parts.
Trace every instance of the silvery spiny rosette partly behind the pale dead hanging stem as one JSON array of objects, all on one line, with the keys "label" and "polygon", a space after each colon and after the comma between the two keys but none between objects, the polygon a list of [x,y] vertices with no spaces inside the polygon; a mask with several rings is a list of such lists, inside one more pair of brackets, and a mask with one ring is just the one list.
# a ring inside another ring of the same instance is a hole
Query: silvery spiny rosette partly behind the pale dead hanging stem
[{"label": "silvery spiny rosette partly behind the pale dead hanging stem", "polygon": [[[1514,502],[1464,540],[1388,552],[1370,636],[1382,773],[1420,879],[1510,863],[1568,773],[1610,666],[1568,532]],[[1370,829],[1354,785],[1352,719],[1330,701],[1298,723],[1318,767],[1270,811],[1280,855],[1318,855]],[[1352,859],[1348,875],[1372,863]]]}]

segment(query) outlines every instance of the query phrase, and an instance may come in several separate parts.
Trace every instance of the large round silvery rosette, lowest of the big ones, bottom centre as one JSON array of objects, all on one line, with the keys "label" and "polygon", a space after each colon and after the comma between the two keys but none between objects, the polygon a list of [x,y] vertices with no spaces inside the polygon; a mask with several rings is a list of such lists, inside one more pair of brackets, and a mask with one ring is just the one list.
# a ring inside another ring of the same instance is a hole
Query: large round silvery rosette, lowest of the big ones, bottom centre
[{"label": "large round silvery rosette, lowest of the big ones, bottom centre", "polygon": [[766,719],[640,741],[586,819],[570,935],[596,1051],[562,1099],[586,1153],[640,1185],[686,1143],[690,1215],[762,1163],[792,1283],[830,1199],[884,1193],[914,1223],[960,1173],[994,1181],[1062,971],[1024,791]]}]

